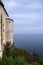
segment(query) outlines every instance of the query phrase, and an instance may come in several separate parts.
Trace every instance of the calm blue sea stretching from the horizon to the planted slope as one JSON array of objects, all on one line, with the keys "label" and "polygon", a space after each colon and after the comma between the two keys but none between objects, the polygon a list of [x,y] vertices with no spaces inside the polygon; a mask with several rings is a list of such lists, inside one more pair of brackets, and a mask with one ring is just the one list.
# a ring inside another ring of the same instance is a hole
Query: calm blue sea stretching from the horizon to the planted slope
[{"label": "calm blue sea stretching from the horizon to the planted slope", "polygon": [[19,47],[43,56],[43,34],[15,34],[14,42]]}]

